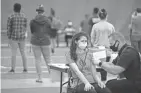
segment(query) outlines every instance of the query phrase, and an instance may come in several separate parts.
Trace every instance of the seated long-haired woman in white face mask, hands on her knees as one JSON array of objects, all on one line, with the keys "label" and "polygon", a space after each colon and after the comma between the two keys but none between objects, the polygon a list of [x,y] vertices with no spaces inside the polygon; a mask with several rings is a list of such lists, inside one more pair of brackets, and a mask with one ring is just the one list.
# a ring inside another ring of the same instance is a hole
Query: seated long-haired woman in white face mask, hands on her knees
[{"label": "seated long-haired woman in white face mask, hands on her knees", "polygon": [[74,35],[66,55],[73,86],[76,87],[76,93],[111,93],[96,73],[92,52],[88,49],[88,38],[84,32]]}]

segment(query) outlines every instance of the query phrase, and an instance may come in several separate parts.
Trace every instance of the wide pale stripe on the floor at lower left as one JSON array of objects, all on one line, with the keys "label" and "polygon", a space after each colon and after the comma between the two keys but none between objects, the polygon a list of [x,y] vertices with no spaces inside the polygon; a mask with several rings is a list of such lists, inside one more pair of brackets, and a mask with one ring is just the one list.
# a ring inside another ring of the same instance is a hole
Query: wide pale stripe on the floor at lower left
[{"label": "wide pale stripe on the floor at lower left", "polygon": [[52,82],[50,78],[43,78],[43,83],[36,83],[36,79],[15,79],[15,80],[2,80],[2,89],[14,88],[37,88],[37,87],[59,87],[60,82]]}]

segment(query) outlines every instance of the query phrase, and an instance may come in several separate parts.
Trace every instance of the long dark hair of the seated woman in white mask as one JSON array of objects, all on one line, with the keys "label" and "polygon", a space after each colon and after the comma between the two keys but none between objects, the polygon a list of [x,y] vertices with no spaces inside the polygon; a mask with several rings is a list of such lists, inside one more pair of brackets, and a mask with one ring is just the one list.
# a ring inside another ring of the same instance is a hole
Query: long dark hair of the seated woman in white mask
[{"label": "long dark hair of the seated woman in white mask", "polygon": [[85,36],[87,38],[87,40],[89,40],[89,36],[85,32],[79,32],[79,33],[77,33],[73,36],[72,41],[71,41],[71,46],[70,46],[70,56],[71,56],[71,59],[74,60],[74,62],[77,61],[77,54],[76,54],[77,44],[76,44],[76,41],[78,41],[81,36]]}]

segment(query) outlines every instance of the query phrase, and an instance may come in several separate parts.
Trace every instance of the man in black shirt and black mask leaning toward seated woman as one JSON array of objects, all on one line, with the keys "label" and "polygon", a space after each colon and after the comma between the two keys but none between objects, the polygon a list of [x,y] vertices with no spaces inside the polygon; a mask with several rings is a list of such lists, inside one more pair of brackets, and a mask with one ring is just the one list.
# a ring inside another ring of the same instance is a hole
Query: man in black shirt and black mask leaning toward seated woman
[{"label": "man in black shirt and black mask leaning toward seated woman", "polygon": [[101,62],[94,59],[94,64],[101,66],[107,72],[119,75],[124,79],[109,80],[106,85],[112,93],[141,93],[141,62],[137,50],[126,44],[126,40],[120,33],[109,36],[110,48],[118,52],[113,62]]}]

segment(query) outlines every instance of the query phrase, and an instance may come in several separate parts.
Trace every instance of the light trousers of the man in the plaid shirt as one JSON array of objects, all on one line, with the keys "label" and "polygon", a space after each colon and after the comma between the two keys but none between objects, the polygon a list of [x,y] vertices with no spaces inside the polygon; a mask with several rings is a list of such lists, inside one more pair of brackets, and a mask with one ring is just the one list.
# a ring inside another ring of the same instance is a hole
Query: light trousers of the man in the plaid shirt
[{"label": "light trousers of the man in the plaid shirt", "polygon": [[24,69],[27,70],[27,58],[25,54],[25,40],[23,41],[15,41],[15,40],[9,40],[9,44],[11,47],[11,69],[15,70],[15,65],[16,65],[16,53],[17,49],[19,48],[21,56],[22,56],[22,61],[23,61],[23,67]]}]

